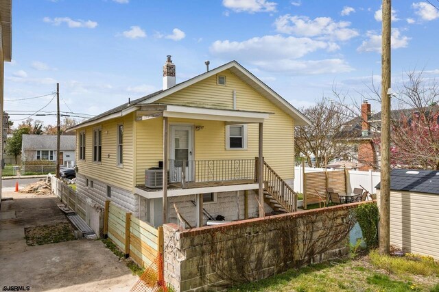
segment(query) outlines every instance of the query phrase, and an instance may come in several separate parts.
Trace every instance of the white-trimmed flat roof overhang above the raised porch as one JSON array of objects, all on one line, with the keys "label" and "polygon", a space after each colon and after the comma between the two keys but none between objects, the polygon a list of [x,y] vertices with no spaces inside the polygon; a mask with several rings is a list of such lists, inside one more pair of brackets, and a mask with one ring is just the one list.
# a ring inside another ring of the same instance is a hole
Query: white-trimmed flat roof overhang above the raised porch
[{"label": "white-trimmed flat roof overhang above the raised porch", "polygon": [[148,120],[159,116],[187,118],[193,120],[218,120],[228,124],[264,122],[270,114],[261,111],[238,111],[233,109],[209,109],[182,105],[143,105],[137,112],[138,120]]}]

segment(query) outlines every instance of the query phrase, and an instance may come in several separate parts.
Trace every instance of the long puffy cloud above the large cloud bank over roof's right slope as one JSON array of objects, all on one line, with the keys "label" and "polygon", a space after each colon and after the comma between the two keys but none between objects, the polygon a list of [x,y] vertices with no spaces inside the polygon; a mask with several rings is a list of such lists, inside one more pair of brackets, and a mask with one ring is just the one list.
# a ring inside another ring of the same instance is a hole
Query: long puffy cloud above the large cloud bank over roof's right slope
[{"label": "long puffy cloud above the large cloud bank over roof's right slope", "polygon": [[331,17],[318,17],[313,20],[307,16],[285,14],[274,21],[276,31],[296,36],[320,37],[330,40],[349,40],[358,36],[356,29],[348,28],[348,21],[336,22]]}]

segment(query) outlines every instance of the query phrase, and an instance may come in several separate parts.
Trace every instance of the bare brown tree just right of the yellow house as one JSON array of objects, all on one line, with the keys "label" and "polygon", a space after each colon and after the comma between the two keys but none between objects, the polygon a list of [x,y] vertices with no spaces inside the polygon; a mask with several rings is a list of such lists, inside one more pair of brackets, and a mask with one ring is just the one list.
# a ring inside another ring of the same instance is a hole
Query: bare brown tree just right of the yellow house
[{"label": "bare brown tree just right of the yellow house", "polygon": [[315,157],[316,167],[321,167],[324,161],[348,155],[351,146],[340,142],[343,126],[351,117],[344,105],[322,98],[316,105],[302,109],[302,112],[311,120],[311,126],[296,127],[296,154],[305,157],[309,166],[312,165],[311,157]]}]

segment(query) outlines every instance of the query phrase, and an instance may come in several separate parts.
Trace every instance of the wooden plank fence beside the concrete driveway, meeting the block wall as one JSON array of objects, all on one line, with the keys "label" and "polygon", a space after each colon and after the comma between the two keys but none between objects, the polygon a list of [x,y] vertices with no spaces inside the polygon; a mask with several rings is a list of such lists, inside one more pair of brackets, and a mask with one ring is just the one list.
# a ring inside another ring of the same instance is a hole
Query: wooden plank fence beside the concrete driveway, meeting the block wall
[{"label": "wooden plank fence beside the concrete driveway, meeting the block wall", "polygon": [[[104,237],[110,238],[126,258],[130,256],[141,267],[163,256],[163,227],[156,229],[110,201],[105,202]],[[163,276],[163,265],[158,271]]]}]

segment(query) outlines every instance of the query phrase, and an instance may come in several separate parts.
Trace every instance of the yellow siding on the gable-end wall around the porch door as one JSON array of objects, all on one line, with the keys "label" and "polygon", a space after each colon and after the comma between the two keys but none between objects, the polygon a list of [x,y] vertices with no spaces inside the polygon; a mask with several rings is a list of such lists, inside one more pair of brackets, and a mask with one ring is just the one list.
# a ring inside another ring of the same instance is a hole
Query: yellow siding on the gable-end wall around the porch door
[{"label": "yellow siding on the gable-end wall around the porch door", "polygon": [[[263,124],[263,155],[265,161],[284,179],[294,178],[294,120],[273,103],[253,90],[233,73],[219,73],[227,85],[217,85],[216,76],[209,77],[171,94],[156,103],[190,105],[218,109],[233,109],[233,90],[236,90],[237,109],[273,113]],[[169,118],[169,124],[202,125],[194,131],[195,159],[254,159],[258,155],[258,124],[248,124],[246,150],[226,150],[225,122]],[[136,182],[145,182],[145,169],[163,160],[163,119],[137,122]]]}]

